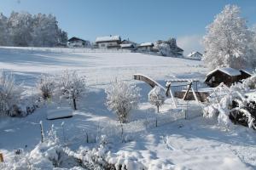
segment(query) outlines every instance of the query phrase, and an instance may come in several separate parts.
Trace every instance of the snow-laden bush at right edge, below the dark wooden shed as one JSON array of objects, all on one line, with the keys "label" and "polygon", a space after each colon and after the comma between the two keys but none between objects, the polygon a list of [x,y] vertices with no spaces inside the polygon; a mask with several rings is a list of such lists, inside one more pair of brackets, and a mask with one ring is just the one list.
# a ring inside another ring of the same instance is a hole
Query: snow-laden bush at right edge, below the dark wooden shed
[{"label": "snow-laden bush at right edge, below the dark wooden shed", "polygon": [[256,129],[256,104],[253,99],[246,96],[255,93],[255,90],[253,92],[250,90],[254,79],[254,76],[249,77],[230,88],[220,84],[208,97],[209,105],[204,108],[204,116],[217,118],[218,123],[224,127],[230,127],[232,121]]}]

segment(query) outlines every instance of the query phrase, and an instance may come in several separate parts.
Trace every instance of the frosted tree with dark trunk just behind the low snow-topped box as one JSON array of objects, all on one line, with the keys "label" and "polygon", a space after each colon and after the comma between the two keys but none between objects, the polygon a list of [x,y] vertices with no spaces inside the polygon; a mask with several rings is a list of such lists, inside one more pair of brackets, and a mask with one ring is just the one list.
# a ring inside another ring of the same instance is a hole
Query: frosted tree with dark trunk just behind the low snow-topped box
[{"label": "frosted tree with dark trunk just behind the low snow-topped box", "polygon": [[57,83],[61,99],[72,101],[73,109],[77,110],[77,100],[86,94],[85,77],[79,77],[76,71],[64,71]]}]

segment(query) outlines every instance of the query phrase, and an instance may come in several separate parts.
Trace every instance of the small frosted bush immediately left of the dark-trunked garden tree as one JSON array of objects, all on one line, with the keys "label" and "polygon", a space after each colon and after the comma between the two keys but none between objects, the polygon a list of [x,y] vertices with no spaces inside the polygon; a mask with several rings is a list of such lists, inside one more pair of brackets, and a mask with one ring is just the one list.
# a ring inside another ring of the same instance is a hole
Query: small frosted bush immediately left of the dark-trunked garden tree
[{"label": "small frosted bush immediately left of the dark-trunked garden tree", "polygon": [[50,99],[52,97],[55,90],[55,85],[54,77],[43,75],[40,78],[37,87],[40,90],[43,99]]}]

